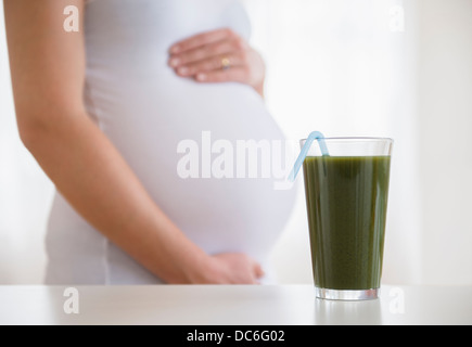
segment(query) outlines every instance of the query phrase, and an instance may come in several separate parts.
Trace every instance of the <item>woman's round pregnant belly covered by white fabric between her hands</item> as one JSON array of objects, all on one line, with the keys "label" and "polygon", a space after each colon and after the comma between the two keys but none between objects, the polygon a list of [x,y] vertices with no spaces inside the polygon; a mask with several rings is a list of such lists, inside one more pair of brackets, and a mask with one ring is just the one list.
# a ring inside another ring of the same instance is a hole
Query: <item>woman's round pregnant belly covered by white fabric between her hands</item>
[{"label": "woman's round pregnant belly covered by white fabric between her hands", "polygon": [[[246,86],[163,79],[89,80],[89,108],[152,198],[192,241],[208,253],[259,258],[294,203],[293,190],[275,189],[281,178],[270,160],[283,152],[272,144],[283,144],[282,132]],[[240,153],[247,143],[267,144],[269,153]],[[253,162],[252,154],[258,155]]]}]

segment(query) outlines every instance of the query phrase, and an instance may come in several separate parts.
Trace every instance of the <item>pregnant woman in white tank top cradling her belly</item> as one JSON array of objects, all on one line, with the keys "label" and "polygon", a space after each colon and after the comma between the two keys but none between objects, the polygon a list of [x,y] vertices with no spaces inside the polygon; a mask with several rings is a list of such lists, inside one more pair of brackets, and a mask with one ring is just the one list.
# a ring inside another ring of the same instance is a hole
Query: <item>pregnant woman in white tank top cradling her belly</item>
[{"label": "pregnant woman in white tank top cradling her belly", "polygon": [[[294,191],[202,175],[203,134],[283,141],[241,4],[4,0],[4,12],[20,136],[58,191],[46,282],[270,282]],[[188,141],[200,175],[182,178]]]}]

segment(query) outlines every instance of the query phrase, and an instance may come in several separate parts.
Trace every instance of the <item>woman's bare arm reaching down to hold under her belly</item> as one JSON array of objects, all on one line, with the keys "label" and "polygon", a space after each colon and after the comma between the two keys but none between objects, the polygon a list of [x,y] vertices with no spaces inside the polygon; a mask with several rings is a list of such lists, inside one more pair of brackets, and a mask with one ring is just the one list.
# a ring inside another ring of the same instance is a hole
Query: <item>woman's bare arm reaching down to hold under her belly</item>
[{"label": "woman's bare arm reaching down to hold under her belly", "polygon": [[4,0],[22,141],[88,222],[164,281],[254,283],[250,258],[211,257],[184,236],[87,115],[82,26],[63,29],[69,4],[84,13],[82,0]]}]

